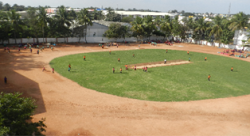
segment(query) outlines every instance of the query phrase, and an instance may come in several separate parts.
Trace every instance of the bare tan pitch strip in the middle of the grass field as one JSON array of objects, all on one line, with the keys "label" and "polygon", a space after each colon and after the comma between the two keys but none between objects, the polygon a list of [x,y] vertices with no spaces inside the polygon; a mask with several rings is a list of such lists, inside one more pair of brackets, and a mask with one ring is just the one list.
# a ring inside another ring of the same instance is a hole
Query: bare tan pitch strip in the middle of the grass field
[{"label": "bare tan pitch strip in the middle of the grass field", "polygon": [[143,67],[153,68],[153,67],[163,67],[163,66],[173,66],[173,65],[181,65],[181,64],[188,64],[189,61],[184,60],[170,60],[164,63],[164,61],[158,62],[149,62],[149,63],[139,63],[139,64],[130,64],[128,68],[134,68],[136,66],[137,69],[142,69]]}]

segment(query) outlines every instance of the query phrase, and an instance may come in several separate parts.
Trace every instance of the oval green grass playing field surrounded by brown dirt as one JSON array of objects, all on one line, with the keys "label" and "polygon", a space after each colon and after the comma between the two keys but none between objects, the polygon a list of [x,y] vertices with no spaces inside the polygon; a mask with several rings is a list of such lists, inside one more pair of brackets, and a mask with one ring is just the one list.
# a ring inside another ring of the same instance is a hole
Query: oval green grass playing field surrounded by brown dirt
[{"label": "oval green grass playing field surrounded by brown dirt", "polygon": [[[132,57],[135,54],[135,57]],[[86,56],[86,61],[83,56]],[[126,64],[188,60],[190,64],[125,70]],[[208,60],[204,61],[207,57]],[[121,62],[117,59],[120,58]],[[71,64],[71,72],[68,65]],[[250,63],[217,55],[161,49],[95,52],[55,58],[51,67],[79,85],[99,92],[150,101],[190,101],[250,94]],[[234,71],[231,72],[231,67]],[[112,73],[115,67],[116,72]],[[123,73],[119,73],[120,67]],[[208,74],[211,81],[207,80]]]}]

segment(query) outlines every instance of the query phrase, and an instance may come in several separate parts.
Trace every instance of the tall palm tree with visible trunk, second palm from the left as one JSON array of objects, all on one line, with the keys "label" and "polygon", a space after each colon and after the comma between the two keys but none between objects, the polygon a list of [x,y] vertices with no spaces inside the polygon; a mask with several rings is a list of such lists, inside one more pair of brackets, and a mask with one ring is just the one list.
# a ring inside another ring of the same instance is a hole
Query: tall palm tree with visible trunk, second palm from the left
[{"label": "tall palm tree with visible trunk, second palm from the left", "polygon": [[[49,17],[47,16],[46,9],[44,7],[39,6],[38,14],[37,14],[38,22],[43,32],[43,42],[44,42],[44,28],[47,28],[47,23],[49,21]],[[39,41],[37,41],[39,42]]]}]

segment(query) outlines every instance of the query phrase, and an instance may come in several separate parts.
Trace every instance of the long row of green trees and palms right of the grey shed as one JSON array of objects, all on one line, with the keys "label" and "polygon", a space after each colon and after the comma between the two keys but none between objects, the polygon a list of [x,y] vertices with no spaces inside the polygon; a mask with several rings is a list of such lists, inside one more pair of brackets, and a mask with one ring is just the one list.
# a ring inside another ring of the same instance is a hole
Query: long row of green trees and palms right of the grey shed
[{"label": "long row of green trees and palms right of the grey shed", "polygon": [[105,36],[121,38],[125,35],[139,39],[148,38],[148,40],[152,35],[163,36],[164,39],[165,37],[178,36],[182,40],[186,40],[189,35],[192,35],[195,40],[229,44],[233,41],[236,30],[246,30],[249,26],[248,17],[242,12],[234,15],[231,20],[219,16],[216,16],[212,21],[206,21],[204,18],[184,18],[180,21],[178,16],[174,19],[169,16],[156,17],[155,19],[151,16],[136,17],[135,19],[129,16],[123,19],[130,22],[132,26],[128,31],[120,31],[123,28],[118,24],[113,24]]}]

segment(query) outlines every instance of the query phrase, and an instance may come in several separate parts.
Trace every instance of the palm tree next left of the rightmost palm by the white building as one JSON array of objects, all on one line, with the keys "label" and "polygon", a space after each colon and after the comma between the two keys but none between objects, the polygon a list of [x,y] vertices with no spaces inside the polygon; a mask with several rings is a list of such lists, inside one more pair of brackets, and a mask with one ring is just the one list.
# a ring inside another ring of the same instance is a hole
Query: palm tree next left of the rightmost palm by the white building
[{"label": "palm tree next left of the rightmost palm by the white building", "polygon": [[213,36],[215,41],[218,41],[219,42],[219,47],[220,47],[220,43],[221,43],[221,35],[222,35],[222,32],[223,32],[223,19],[219,16],[216,16],[214,19],[213,19],[213,22],[211,23],[211,27],[210,28],[207,28],[207,29],[210,29],[210,34],[209,36]]}]

